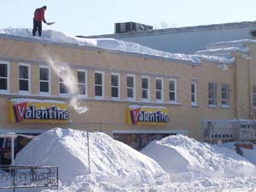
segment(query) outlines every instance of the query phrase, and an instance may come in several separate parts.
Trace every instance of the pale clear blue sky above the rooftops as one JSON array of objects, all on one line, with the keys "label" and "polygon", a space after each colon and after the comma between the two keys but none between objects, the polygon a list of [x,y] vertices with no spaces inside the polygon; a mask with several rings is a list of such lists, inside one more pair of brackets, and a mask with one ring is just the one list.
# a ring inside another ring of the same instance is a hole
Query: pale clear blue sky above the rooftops
[{"label": "pale clear blue sky above the rooftops", "polygon": [[46,5],[43,26],[71,35],[113,33],[116,22],[162,26],[198,26],[256,20],[255,0],[2,0],[0,28],[32,28],[34,9]]}]

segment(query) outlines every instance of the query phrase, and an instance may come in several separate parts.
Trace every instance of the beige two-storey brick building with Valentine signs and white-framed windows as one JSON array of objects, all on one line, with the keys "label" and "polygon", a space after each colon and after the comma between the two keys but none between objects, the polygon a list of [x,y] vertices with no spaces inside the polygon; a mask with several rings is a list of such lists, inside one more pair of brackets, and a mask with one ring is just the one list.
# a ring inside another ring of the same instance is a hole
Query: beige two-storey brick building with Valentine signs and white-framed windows
[{"label": "beige two-storey brick building with Valentine signs and white-framed windows", "polygon": [[[0,131],[39,134],[53,127],[103,131],[137,149],[177,133],[200,141],[209,139],[209,134],[216,142],[237,140],[237,119],[250,119],[249,109],[256,107],[256,47],[253,42],[245,46],[246,53],[231,52],[234,62],[223,69],[219,67],[223,63],[209,59],[197,63],[1,36]],[[67,73],[78,80],[79,102],[88,112],[58,106],[70,102]],[[26,108],[16,105],[19,101],[27,102]],[[44,103],[56,103],[56,108]],[[164,115],[166,119],[160,119]],[[3,164],[9,158],[6,143],[4,139],[0,143]]]}]

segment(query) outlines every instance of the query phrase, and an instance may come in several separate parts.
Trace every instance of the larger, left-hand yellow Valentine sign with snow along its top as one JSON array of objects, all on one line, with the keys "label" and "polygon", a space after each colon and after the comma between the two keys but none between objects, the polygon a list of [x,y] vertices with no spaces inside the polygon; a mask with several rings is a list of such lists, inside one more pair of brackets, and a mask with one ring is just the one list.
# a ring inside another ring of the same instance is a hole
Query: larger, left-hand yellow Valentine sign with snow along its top
[{"label": "larger, left-hand yellow Valentine sign with snow along its top", "polygon": [[9,123],[68,123],[66,102],[37,99],[11,99]]}]

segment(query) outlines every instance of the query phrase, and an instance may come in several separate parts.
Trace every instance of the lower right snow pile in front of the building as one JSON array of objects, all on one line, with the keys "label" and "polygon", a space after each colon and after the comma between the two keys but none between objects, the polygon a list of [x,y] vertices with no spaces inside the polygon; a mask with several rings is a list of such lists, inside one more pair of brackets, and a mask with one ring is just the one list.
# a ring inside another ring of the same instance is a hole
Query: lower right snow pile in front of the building
[{"label": "lower right snow pile in front of the building", "polygon": [[212,145],[211,150],[211,145],[182,135],[149,143],[142,153],[157,161],[172,179],[178,181],[244,176],[256,171],[253,164],[228,148]]}]

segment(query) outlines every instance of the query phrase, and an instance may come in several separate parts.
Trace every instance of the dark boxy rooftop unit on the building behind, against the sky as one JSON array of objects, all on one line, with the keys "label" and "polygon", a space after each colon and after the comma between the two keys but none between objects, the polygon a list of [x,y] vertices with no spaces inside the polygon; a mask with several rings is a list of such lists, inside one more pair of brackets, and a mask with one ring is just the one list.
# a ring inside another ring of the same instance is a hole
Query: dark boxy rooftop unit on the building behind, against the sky
[{"label": "dark boxy rooftop unit on the building behind, against the sky", "polygon": [[114,33],[141,32],[153,29],[153,26],[147,26],[135,22],[115,23],[114,26]]}]

